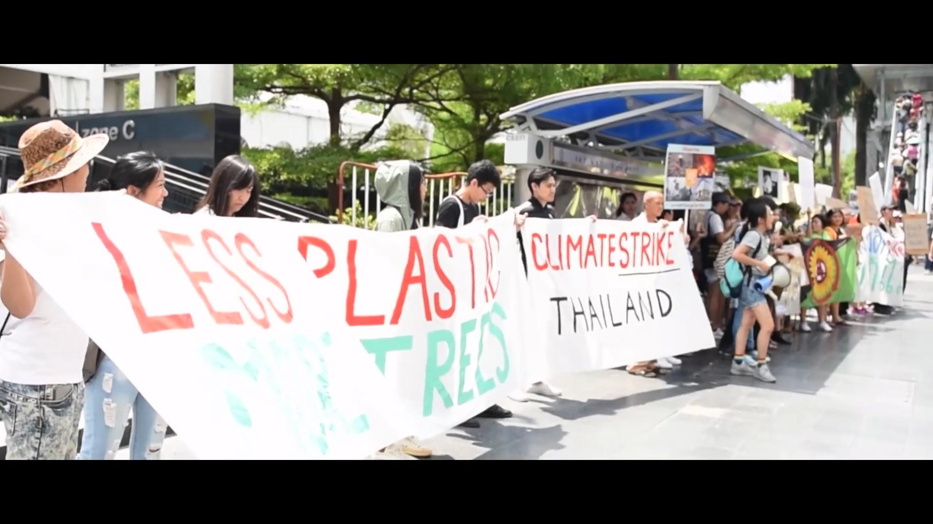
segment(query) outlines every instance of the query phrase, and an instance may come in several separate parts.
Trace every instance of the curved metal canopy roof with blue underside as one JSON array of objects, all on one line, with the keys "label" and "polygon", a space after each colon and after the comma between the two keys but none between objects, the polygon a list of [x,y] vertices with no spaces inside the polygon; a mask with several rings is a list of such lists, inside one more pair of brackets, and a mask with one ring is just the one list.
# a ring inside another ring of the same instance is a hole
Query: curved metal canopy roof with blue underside
[{"label": "curved metal canopy roof with blue underside", "polygon": [[712,81],[608,84],[522,103],[502,115],[540,136],[572,136],[601,149],[661,156],[668,144],[756,144],[791,159],[814,146]]}]

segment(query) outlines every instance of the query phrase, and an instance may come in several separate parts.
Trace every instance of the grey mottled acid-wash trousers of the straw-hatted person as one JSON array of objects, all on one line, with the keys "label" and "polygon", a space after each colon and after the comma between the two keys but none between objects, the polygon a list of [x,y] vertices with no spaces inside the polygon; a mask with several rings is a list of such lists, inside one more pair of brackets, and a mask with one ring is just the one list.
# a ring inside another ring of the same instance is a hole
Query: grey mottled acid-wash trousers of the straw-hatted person
[{"label": "grey mottled acid-wash trousers of the straw-hatted person", "polygon": [[7,460],[74,460],[82,407],[83,383],[31,386],[0,380]]}]

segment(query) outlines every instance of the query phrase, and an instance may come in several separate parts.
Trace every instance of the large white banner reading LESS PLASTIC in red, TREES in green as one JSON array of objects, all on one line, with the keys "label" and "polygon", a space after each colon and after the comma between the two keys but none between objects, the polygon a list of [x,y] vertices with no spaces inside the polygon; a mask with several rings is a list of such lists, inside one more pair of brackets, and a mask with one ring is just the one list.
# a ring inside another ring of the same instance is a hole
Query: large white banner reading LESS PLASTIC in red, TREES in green
[{"label": "large white banner reading LESS PLASTIC in red, TREES in green", "polygon": [[202,459],[358,458],[521,383],[512,214],[378,233],[117,193],[0,212],[8,254]]}]

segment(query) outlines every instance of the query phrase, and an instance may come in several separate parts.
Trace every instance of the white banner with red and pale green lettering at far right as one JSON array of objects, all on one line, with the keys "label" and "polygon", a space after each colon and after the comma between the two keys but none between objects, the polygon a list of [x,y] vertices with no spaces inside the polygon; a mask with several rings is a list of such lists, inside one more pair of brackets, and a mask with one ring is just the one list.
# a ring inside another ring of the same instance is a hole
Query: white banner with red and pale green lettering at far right
[{"label": "white banner with red and pale green lettering at far right", "polygon": [[899,307],[904,302],[904,242],[881,228],[862,228],[856,301]]}]

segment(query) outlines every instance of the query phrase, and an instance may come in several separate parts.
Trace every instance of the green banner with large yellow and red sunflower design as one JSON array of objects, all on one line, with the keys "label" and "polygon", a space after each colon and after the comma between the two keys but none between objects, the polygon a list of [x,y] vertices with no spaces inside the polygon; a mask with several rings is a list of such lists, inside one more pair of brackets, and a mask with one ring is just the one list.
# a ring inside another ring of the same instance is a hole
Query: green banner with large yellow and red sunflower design
[{"label": "green banner with large yellow and red sunflower design", "polygon": [[858,246],[855,239],[803,241],[802,248],[810,283],[801,287],[801,308],[856,299]]}]

